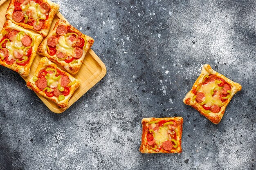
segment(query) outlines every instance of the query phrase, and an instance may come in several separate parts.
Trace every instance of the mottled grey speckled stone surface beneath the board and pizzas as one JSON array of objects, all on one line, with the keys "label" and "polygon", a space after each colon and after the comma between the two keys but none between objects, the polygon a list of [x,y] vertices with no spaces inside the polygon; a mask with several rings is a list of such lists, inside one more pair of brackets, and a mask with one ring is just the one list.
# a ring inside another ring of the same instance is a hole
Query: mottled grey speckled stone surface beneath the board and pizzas
[{"label": "mottled grey speckled stone surface beneath the board and pizzas", "polygon": [[[0,67],[0,169],[255,169],[254,0],[54,0],[108,73],[64,113]],[[182,99],[202,64],[242,84],[220,124]],[[184,118],[181,154],[141,154],[143,117]]]}]

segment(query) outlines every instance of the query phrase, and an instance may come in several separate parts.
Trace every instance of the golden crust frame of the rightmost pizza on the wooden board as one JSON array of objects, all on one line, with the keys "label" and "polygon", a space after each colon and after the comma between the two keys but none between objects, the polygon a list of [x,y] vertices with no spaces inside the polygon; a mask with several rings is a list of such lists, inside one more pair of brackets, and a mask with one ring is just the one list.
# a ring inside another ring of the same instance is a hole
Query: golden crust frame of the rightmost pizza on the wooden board
[{"label": "golden crust frame of the rightmost pizza on the wooden board", "polygon": [[[59,61],[58,57],[55,55],[49,55],[47,52],[47,40],[50,36],[52,36],[53,33],[56,33],[56,29],[58,27],[58,25],[60,24],[66,24],[67,26],[70,27],[70,29],[72,30],[72,32],[78,34],[80,37],[84,38],[85,40],[87,40],[87,43],[85,46],[83,46],[83,55],[82,57],[80,57],[77,63],[71,64],[65,62],[64,60]],[[57,64],[60,64],[61,66],[63,66],[63,68],[65,68],[69,73],[75,74],[79,71],[80,67],[82,66],[83,60],[85,58],[85,55],[87,53],[87,51],[91,48],[92,44],[94,43],[94,40],[87,36],[82,34],[78,29],[74,28],[74,26],[71,26],[70,24],[67,24],[65,20],[61,20],[59,19],[55,26],[54,29],[52,31],[50,31],[49,35],[45,38],[45,40],[40,44],[40,46],[38,47],[38,54],[39,55],[43,55],[44,57],[47,57],[49,60],[51,60],[52,62],[56,62]]]}]

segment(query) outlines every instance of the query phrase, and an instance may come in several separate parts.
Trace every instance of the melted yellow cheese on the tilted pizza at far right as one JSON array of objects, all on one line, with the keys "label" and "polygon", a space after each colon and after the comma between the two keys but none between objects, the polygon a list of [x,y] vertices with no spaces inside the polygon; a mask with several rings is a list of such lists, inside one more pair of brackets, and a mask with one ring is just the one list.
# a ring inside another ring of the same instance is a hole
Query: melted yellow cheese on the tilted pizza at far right
[{"label": "melted yellow cheese on the tilted pizza at far right", "polygon": [[[220,90],[222,87],[218,86],[216,81],[214,82],[209,82],[207,84],[202,84],[198,92],[204,93],[205,97],[202,99],[202,103],[200,104],[205,104],[206,107],[210,107],[214,104],[221,106],[222,101],[220,100]],[[213,92],[217,91],[214,95]]]}]

